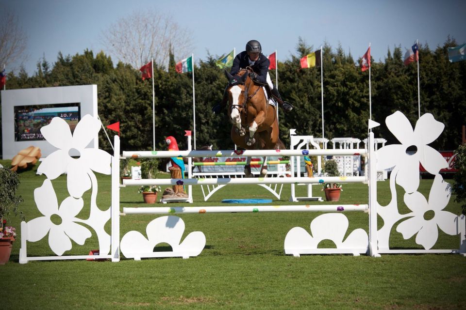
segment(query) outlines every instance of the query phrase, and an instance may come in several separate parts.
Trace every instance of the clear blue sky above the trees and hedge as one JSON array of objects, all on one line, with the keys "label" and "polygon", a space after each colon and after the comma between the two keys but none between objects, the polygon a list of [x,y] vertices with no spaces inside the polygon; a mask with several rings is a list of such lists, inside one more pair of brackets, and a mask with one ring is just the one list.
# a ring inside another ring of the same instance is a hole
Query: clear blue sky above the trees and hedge
[{"label": "clear blue sky above the trees and hedge", "polygon": [[[416,39],[431,49],[443,45],[450,34],[459,44],[466,42],[464,0],[0,0],[19,18],[28,36],[28,60],[23,62],[32,75],[45,55],[50,63],[58,52],[64,55],[95,53],[105,48],[100,42],[105,31],[119,17],[150,8],[173,16],[180,26],[192,31],[195,59],[207,52],[221,55],[247,41],[259,40],[264,54],[277,49],[279,60],[296,55],[298,38],[315,49],[324,41],[336,48],[341,44],[354,59],[371,43],[371,54],[382,60],[387,49],[410,47]],[[0,14],[3,10],[0,9]],[[1,17],[1,16],[0,16]],[[110,54],[114,63],[116,57]],[[7,72],[18,68],[16,63]]]}]

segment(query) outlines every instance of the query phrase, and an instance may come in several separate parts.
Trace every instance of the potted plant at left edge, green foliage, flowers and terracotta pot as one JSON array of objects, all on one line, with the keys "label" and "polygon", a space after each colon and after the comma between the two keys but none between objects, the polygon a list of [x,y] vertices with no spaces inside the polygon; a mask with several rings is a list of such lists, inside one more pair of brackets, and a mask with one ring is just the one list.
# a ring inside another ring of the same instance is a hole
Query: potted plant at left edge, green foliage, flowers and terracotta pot
[{"label": "potted plant at left edge, green foliage, flowers and terracotta pot", "polygon": [[6,226],[5,217],[13,212],[15,215],[19,214],[21,220],[24,220],[24,215],[18,209],[19,203],[23,200],[21,196],[16,196],[19,186],[18,174],[10,169],[0,168],[0,184],[0,264],[5,264],[10,259],[16,236],[15,228]]}]

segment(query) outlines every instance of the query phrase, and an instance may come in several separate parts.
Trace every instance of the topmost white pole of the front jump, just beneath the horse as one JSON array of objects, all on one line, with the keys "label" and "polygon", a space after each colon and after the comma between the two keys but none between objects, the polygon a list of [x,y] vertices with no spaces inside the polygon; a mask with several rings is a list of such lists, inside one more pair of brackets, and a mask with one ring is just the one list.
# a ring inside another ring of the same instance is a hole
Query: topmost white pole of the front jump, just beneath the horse
[{"label": "topmost white pole of the front jump, just beneath the horse", "polygon": [[366,149],[338,150],[242,150],[242,151],[123,151],[123,157],[244,157],[244,156],[325,156],[325,155],[367,155]]}]

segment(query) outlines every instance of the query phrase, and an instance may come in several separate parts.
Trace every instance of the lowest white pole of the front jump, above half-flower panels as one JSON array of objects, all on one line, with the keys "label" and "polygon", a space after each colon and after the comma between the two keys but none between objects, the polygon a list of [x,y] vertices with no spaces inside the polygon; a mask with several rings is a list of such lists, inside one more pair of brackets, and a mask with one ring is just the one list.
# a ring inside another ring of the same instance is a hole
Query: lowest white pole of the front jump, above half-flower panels
[{"label": "lowest white pole of the front jump, above half-flower panels", "polygon": [[144,207],[123,208],[123,214],[204,214],[204,213],[257,213],[257,212],[367,212],[368,204],[327,204],[327,205],[251,205],[251,206],[209,206],[209,207]]}]

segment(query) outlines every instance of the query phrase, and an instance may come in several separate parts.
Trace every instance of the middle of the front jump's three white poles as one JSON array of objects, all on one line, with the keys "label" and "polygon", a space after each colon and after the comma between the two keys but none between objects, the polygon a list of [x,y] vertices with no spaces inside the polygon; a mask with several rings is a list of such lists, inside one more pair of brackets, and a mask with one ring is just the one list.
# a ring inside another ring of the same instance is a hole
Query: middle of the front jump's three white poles
[{"label": "middle of the front jump's three white poles", "polygon": [[141,179],[123,180],[124,186],[144,186],[144,185],[244,185],[244,184],[323,184],[323,183],[362,183],[367,182],[365,176],[348,177],[272,177],[272,178],[199,178],[199,179]]}]

